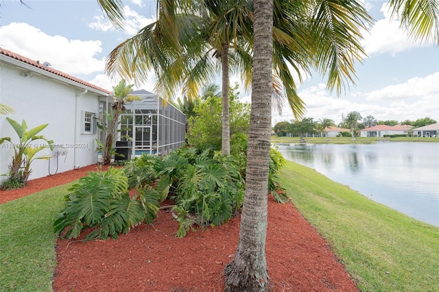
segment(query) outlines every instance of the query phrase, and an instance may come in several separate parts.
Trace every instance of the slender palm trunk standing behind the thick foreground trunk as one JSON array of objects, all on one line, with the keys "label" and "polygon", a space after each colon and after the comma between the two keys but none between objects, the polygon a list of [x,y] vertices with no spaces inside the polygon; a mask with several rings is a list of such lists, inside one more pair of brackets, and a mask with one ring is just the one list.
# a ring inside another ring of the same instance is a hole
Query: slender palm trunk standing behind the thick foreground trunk
[{"label": "slender palm trunk standing behind the thick foreground trunk", "polygon": [[230,113],[228,109],[228,44],[222,45],[222,155],[230,155]]}]

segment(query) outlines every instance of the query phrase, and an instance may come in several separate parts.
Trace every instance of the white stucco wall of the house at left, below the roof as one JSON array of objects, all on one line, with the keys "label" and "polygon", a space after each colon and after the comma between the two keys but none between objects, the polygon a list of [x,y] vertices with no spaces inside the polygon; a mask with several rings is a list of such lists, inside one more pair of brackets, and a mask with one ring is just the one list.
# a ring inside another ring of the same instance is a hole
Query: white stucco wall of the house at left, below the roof
[{"label": "white stucco wall of the house at left, below the roof", "polygon": [[[10,136],[14,143],[18,136],[6,117],[21,123],[26,121],[28,130],[45,123],[49,124],[40,132],[55,145],[62,147],[62,156],[50,160],[35,160],[31,164],[29,180],[84,167],[97,162],[95,138],[97,134],[82,134],[83,111],[99,112],[98,95],[84,93],[84,89],[64,84],[49,77],[34,74],[25,77],[23,70],[9,64],[0,64],[0,103],[14,108],[14,114],[0,116],[0,137]],[[78,97],[77,97],[78,95]],[[97,132],[97,131],[95,131]],[[43,141],[34,141],[35,144]],[[33,143],[33,144],[34,144]],[[0,145],[0,174],[8,174],[13,149],[7,144]],[[50,149],[39,154],[51,154]],[[6,176],[0,176],[0,181]]]}]

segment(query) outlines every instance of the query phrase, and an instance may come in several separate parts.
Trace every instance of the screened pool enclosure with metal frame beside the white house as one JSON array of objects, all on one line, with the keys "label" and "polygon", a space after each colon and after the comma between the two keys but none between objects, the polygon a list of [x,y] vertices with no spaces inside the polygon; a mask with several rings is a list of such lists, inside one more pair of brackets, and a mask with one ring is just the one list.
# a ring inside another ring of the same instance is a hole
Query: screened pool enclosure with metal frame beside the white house
[{"label": "screened pool enclosure with metal frame beside the white house", "polygon": [[147,90],[134,90],[130,95],[141,100],[126,104],[126,112],[121,114],[120,140],[132,138],[132,154],[163,156],[185,145],[185,114]]}]

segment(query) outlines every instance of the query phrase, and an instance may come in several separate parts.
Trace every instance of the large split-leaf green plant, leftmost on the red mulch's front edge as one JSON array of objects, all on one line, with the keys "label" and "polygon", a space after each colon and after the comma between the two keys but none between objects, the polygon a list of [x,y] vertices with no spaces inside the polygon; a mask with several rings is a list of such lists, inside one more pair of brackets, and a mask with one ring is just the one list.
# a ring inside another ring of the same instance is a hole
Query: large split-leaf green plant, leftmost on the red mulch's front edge
[{"label": "large split-leaf green plant, leftmost on the red mulch's front edge", "polygon": [[137,188],[130,197],[128,178],[112,167],[88,173],[69,191],[64,208],[54,216],[54,232],[67,239],[77,238],[86,228],[93,228],[86,240],[117,239],[144,221],[154,221],[160,206],[151,186]]}]

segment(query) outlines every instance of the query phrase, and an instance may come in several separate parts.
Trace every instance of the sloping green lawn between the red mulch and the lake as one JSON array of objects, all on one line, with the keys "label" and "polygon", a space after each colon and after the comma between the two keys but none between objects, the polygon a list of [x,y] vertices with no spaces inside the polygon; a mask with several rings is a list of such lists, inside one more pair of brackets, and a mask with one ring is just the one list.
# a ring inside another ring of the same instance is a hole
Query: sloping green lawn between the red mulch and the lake
[{"label": "sloping green lawn between the red mulch and the lake", "polygon": [[439,291],[439,228],[294,162],[281,185],[361,291]]}]

